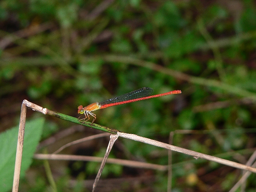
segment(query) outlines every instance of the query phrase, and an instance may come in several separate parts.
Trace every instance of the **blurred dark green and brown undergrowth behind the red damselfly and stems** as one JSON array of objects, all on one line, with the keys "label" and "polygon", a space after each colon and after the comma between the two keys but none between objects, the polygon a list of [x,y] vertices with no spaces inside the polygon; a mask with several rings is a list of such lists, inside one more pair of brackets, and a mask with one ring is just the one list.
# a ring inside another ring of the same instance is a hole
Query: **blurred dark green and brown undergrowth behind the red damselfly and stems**
[{"label": "blurred dark green and brown undergrowth behind the red damselfly and stems", "polygon": [[[246,163],[256,146],[256,3],[253,0],[1,0],[0,131],[23,99],[79,117],[89,105],[140,87],[180,95],[96,111],[96,123]],[[43,116],[28,110],[27,118]],[[47,117],[42,141],[76,125]],[[178,131],[177,131],[178,130]],[[189,131],[184,131],[189,130]],[[27,130],[29,131],[29,130]],[[99,133],[90,128],[48,146]],[[102,157],[108,139],[65,154]],[[111,157],[168,164],[167,150],[119,138]],[[228,191],[241,170],[173,154],[175,192]],[[87,191],[99,163],[50,161],[60,191]],[[128,180],[129,178],[129,180]],[[107,164],[99,191],[166,191],[167,172]],[[118,183],[120,182],[120,183]],[[255,191],[252,174],[246,191]],[[49,191],[34,160],[20,191]]]}]

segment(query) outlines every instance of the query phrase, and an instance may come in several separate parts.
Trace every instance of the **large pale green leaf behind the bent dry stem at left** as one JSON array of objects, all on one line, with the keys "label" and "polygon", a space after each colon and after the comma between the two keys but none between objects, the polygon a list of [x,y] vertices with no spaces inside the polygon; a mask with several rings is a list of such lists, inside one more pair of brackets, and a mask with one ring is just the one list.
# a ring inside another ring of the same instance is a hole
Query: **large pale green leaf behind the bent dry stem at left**
[{"label": "large pale green leaf behind the bent dry stem at left", "polygon": [[[26,169],[32,163],[33,154],[41,138],[43,124],[44,118],[26,122],[20,177],[24,177]],[[18,130],[19,126],[16,126],[0,134],[1,192],[9,191],[12,188]]]}]

